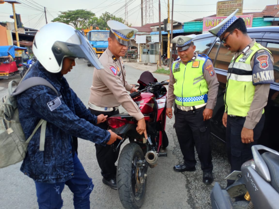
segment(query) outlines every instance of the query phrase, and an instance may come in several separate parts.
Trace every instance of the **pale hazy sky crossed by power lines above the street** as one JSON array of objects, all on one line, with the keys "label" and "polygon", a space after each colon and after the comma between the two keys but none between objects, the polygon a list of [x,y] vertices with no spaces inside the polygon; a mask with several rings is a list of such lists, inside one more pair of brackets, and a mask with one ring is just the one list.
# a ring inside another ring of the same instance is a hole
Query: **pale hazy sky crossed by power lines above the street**
[{"label": "pale hazy sky crossed by power lines above the street", "polygon": [[[132,26],[141,26],[141,0],[17,0],[21,4],[15,4],[16,13],[21,15],[21,22],[25,27],[39,29],[46,24],[44,7],[46,8],[47,22],[56,18],[60,11],[68,11],[75,9],[86,9],[96,14],[97,17],[105,13],[114,14],[125,20],[125,1],[127,2],[128,23]],[[145,2],[145,0],[143,0]],[[159,0],[153,1],[153,22],[159,21]],[[97,3],[96,3],[97,2]],[[196,4],[195,4],[196,2]],[[218,0],[174,0],[173,19],[179,22],[187,22],[196,18],[203,18],[216,14]],[[160,0],[161,3],[161,21],[167,18],[168,0]],[[172,0],[170,4],[170,19]],[[243,0],[243,12],[260,12],[266,5],[277,4],[278,0]],[[152,6],[152,4],[151,4]],[[152,10],[151,10],[152,11]],[[9,18],[13,14],[12,5],[9,3],[0,4],[0,21],[10,21]],[[151,18],[152,20],[152,18]],[[145,22],[145,20],[144,20]],[[147,21],[147,23],[149,23]]]}]

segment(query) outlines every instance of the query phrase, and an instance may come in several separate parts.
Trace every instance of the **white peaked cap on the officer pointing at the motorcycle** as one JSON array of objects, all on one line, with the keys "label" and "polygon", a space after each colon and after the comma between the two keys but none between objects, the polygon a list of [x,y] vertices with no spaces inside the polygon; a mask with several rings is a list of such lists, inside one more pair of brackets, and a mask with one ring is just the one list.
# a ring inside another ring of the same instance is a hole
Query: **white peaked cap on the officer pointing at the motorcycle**
[{"label": "white peaked cap on the officer pointing at the motorcycle", "polygon": [[137,29],[130,28],[115,20],[107,21],[107,25],[110,27],[110,31],[115,35],[117,41],[125,46],[131,44],[130,38],[138,32]]}]

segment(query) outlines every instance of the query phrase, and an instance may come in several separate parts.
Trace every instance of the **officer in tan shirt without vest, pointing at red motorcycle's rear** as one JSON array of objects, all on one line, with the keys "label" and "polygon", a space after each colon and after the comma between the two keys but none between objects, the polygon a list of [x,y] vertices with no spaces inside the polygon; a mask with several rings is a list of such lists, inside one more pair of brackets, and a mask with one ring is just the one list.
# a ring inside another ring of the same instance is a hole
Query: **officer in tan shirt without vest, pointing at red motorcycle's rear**
[{"label": "officer in tan shirt without vest, pointing at red motorcycle's rear", "polygon": [[[90,88],[89,110],[93,114],[104,114],[108,117],[119,114],[119,106],[122,105],[129,115],[138,120],[137,131],[139,134],[146,134],[146,125],[143,114],[136,103],[129,96],[130,93],[138,91],[126,81],[126,71],[122,61],[122,56],[127,52],[130,45],[130,38],[138,32],[123,23],[109,20],[110,27],[108,38],[109,46],[99,58],[104,66],[104,70],[94,69],[93,84]],[[107,123],[98,124],[100,128],[107,129]],[[119,152],[114,152],[112,146],[100,146],[95,144],[97,161],[101,168],[103,183],[112,189],[117,189],[116,166]]]}]

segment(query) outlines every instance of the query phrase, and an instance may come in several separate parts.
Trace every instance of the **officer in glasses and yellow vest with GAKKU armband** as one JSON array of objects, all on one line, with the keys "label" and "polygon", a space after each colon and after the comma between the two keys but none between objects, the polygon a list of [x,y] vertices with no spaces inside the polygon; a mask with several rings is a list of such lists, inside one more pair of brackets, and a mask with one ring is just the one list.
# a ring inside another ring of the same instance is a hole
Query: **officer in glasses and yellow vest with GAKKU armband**
[{"label": "officer in glasses and yellow vest with GAKKU armband", "polygon": [[[252,159],[264,126],[264,106],[270,83],[274,82],[273,56],[247,34],[245,22],[237,18],[238,9],[209,32],[235,55],[230,62],[225,90],[223,125],[231,171]],[[233,181],[228,180],[227,186]]]}]

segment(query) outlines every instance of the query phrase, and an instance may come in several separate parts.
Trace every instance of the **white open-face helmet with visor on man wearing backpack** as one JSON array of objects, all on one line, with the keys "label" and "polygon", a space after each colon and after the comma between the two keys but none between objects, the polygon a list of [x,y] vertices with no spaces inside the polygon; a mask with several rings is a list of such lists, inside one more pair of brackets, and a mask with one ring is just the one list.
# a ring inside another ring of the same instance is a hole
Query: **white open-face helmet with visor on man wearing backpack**
[{"label": "white open-face helmet with visor on man wearing backpack", "polygon": [[84,58],[97,69],[104,68],[80,31],[64,23],[49,23],[38,30],[33,53],[49,72],[60,72],[64,57]]}]

